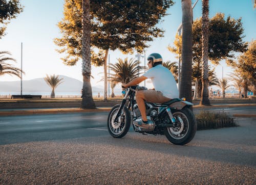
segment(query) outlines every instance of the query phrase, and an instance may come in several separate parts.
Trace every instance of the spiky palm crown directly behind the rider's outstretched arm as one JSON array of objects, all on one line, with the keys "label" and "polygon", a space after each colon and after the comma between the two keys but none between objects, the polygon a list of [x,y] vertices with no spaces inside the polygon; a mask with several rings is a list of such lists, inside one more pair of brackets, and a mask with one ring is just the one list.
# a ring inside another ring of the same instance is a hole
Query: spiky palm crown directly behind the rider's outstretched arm
[{"label": "spiky palm crown directly behind the rider's outstretched arm", "polygon": [[139,66],[139,61],[134,59],[125,58],[124,60],[118,59],[118,63],[110,64],[110,69],[114,74],[110,74],[110,80],[116,83],[129,83],[133,78],[137,77],[140,71],[144,70],[145,67]]}]

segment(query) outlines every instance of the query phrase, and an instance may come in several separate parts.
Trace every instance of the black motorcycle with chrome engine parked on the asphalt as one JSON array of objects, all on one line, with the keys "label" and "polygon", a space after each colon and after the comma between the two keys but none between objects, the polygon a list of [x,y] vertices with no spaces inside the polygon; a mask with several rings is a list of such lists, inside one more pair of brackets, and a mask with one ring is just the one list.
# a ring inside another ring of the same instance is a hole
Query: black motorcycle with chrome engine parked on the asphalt
[{"label": "black motorcycle with chrome engine parked on the asphalt", "polygon": [[145,102],[146,115],[153,123],[146,128],[135,125],[135,120],[141,118],[136,103],[137,90],[147,90],[145,87],[131,86],[122,93],[124,98],[121,104],[115,105],[108,115],[108,130],[112,137],[122,138],[130,129],[144,135],[165,135],[176,145],[185,145],[190,142],[197,130],[197,122],[193,112],[189,109],[193,103],[185,99],[174,98],[165,103]]}]

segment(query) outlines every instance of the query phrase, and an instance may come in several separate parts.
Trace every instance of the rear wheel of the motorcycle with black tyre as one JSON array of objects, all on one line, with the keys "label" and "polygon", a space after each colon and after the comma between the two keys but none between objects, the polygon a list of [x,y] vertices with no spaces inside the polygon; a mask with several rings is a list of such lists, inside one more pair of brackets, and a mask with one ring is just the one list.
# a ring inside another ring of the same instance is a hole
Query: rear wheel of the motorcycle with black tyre
[{"label": "rear wheel of the motorcycle with black tyre", "polygon": [[197,131],[197,122],[192,111],[188,108],[173,111],[176,124],[165,128],[166,138],[176,145],[184,145],[190,142]]}]

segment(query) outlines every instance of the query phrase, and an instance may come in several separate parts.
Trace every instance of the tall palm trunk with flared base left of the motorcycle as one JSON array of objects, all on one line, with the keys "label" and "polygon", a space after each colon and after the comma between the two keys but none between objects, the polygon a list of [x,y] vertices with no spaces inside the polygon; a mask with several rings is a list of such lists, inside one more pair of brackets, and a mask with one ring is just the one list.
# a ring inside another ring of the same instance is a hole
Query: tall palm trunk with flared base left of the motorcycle
[{"label": "tall palm trunk with flared base left of the motorcycle", "polygon": [[95,109],[91,86],[91,20],[90,0],[82,0],[82,109]]}]

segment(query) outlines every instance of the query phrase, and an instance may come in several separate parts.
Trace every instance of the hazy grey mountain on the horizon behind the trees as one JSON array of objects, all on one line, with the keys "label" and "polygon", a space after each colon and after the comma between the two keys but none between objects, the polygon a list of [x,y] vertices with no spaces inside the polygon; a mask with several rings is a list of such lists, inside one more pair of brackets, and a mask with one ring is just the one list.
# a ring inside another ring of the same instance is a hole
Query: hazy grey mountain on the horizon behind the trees
[{"label": "hazy grey mountain on the horizon behind the trees", "polygon": [[[82,82],[76,80],[75,78],[71,78],[65,75],[59,75],[60,78],[63,78],[63,83],[58,85],[55,89],[55,93],[74,93],[80,94],[82,89]],[[93,94],[103,94],[104,87],[102,86],[92,86]],[[121,92],[120,89],[116,88],[118,93]],[[13,81],[13,82],[0,82],[0,93],[17,93],[20,92],[20,81]],[[50,86],[45,82],[44,78],[35,78],[28,81],[23,81],[23,94],[36,94],[36,93],[51,93]],[[111,91],[110,91],[111,92]]]}]

